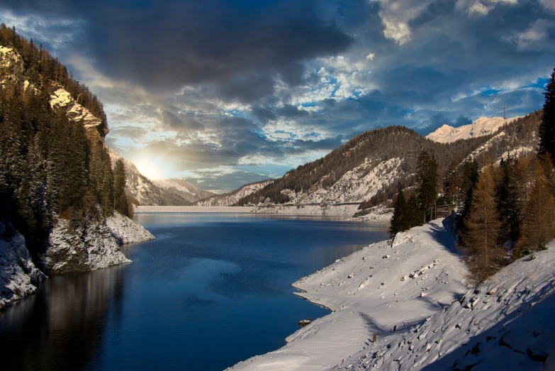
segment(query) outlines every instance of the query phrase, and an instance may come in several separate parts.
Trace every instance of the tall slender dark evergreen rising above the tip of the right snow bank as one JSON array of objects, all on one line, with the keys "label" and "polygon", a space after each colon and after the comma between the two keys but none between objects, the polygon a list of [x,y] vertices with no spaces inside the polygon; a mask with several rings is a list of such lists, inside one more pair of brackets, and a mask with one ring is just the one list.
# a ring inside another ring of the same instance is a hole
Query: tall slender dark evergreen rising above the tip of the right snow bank
[{"label": "tall slender dark evergreen rising above the tip of the right snow bank", "polygon": [[424,214],[424,223],[435,217],[435,206],[437,201],[437,161],[423,150],[418,155],[417,162],[418,188],[417,194],[420,201],[420,209]]}]

